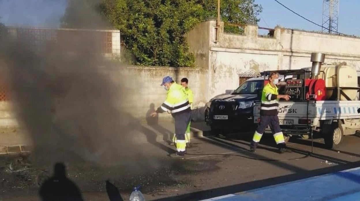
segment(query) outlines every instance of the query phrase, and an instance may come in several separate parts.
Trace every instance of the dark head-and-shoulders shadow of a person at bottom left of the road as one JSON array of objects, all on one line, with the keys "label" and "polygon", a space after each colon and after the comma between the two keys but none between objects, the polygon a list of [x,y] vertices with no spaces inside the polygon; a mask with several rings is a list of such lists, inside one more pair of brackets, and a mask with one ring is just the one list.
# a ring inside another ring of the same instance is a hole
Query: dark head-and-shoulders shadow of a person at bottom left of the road
[{"label": "dark head-and-shoulders shadow of a person at bottom left of the road", "polygon": [[54,175],[42,184],[39,194],[42,201],[83,201],[76,184],[66,177],[63,163],[55,164]]}]

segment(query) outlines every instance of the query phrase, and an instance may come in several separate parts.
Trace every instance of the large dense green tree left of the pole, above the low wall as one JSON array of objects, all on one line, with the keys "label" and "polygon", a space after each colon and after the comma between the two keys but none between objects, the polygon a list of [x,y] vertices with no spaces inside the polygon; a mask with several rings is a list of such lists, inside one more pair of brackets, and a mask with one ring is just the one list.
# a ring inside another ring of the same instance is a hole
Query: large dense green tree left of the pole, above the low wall
[{"label": "large dense green tree left of the pole, above the low wall", "polygon": [[117,29],[137,64],[191,67],[185,33],[204,18],[192,0],[105,0],[103,14]]}]

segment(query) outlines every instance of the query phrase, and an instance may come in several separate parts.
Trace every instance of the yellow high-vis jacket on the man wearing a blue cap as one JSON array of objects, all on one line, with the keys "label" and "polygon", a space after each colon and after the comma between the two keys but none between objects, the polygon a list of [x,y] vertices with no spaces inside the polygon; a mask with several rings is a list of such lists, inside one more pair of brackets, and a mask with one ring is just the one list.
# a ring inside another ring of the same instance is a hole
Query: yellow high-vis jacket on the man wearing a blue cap
[{"label": "yellow high-vis jacket on the man wearing a blue cap", "polygon": [[180,84],[172,83],[165,102],[156,110],[157,113],[168,112],[172,115],[191,111],[185,88]]}]

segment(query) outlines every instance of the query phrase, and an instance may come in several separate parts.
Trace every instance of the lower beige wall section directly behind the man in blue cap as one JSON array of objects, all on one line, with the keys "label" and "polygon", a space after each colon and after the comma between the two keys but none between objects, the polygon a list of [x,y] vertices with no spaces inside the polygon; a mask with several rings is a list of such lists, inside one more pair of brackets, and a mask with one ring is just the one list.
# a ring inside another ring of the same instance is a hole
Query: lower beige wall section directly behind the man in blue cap
[{"label": "lower beige wall section directly behind the man in blue cap", "polygon": [[[189,79],[189,88],[194,92],[193,119],[203,118],[203,107],[208,101],[205,97],[208,74],[206,69],[119,66],[105,70],[115,83],[123,84],[122,96],[125,99],[121,99],[123,102],[119,104],[136,118],[145,118],[151,104],[157,109],[165,101],[166,90],[160,86],[165,76],[171,76],[176,83],[180,83],[184,77]],[[160,114],[159,117],[172,118],[167,113]]]}]

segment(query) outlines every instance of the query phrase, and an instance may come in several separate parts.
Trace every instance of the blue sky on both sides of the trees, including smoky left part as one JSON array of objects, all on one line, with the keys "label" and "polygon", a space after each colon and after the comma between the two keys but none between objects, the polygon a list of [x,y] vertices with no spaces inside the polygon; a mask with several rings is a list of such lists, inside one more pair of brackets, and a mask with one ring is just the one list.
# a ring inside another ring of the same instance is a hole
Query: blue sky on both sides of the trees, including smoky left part
[{"label": "blue sky on both sides of the trees, including smoky left part", "polygon": [[[323,0],[279,0],[310,20],[321,24]],[[274,0],[255,0],[263,12],[259,26],[274,28],[277,24],[286,28],[321,31],[321,28],[291,13]],[[0,17],[12,26],[59,26],[66,8],[66,0],[0,0]],[[338,31],[360,36],[360,0],[340,0]],[[266,32],[267,33],[267,32]]]}]

